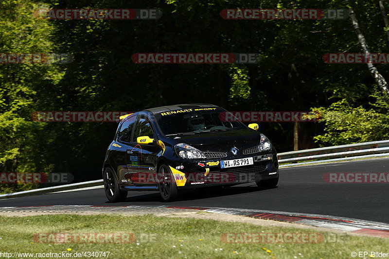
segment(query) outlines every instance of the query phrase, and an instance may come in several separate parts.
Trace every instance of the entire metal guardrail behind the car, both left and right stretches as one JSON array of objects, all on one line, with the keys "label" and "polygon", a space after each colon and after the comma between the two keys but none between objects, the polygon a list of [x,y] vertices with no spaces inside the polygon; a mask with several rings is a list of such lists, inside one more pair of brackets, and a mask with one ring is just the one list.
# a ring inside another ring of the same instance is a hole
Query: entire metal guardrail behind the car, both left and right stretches
[{"label": "entire metal guardrail behind the car, both left and right stretches", "polygon": [[[279,153],[280,168],[290,165],[305,165],[313,163],[326,163],[344,161],[348,159],[372,158],[389,156],[389,140],[371,141],[350,145],[314,148],[300,151]],[[301,162],[301,163],[300,163]],[[19,191],[1,194],[0,199],[30,196],[62,190],[73,190],[86,187],[100,186],[103,180],[88,181],[75,184],[60,185],[35,190]]]}]

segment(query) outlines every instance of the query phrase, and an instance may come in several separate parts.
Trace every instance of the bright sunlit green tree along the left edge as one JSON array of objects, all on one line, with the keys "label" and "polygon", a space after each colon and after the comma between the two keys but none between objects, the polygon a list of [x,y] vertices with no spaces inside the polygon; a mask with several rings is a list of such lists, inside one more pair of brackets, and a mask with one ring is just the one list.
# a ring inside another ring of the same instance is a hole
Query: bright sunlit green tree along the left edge
[{"label": "bright sunlit green tree along the left edge", "polygon": [[[0,52],[46,53],[52,50],[53,27],[33,17],[38,5],[28,0],[0,2]],[[43,125],[31,120],[38,92],[60,77],[46,64],[0,64],[0,172],[48,172]],[[2,189],[29,189],[8,185]]]}]

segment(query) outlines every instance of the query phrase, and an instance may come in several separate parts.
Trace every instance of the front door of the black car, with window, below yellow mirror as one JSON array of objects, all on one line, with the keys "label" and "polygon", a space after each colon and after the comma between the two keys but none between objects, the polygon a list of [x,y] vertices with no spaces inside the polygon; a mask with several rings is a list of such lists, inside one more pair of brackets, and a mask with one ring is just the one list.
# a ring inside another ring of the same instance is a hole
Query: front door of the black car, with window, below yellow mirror
[{"label": "front door of the black car, with window, below yellow mirror", "polygon": [[154,185],[157,183],[155,168],[155,165],[157,164],[157,153],[161,148],[155,143],[156,141],[149,144],[138,144],[137,138],[142,136],[156,139],[152,123],[150,119],[144,115],[138,116],[138,120],[134,127],[133,142],[131,142],[132,145],[135,145],[131,154],[133,156],[132,158],[137,159],[138,162],[138,166],[136,167],[137,172],[134,174],[133,181],[135,184],[139,185]]}]

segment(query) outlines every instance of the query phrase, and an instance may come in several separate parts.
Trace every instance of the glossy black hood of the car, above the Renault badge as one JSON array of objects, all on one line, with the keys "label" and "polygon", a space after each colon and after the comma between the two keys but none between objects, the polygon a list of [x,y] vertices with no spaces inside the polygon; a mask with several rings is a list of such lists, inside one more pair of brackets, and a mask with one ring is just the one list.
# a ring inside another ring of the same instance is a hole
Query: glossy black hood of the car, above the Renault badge
[{"label": "glossy black hood of the car, above the Renault badge", "polygon": [[179,135],[172,138],[169,141],[172,145],[186,143],[201,151],[229,152],[232,147],[240,150],[256,146],[259,144],[261,136],[259,132],[252,129],[242,129]]}]

